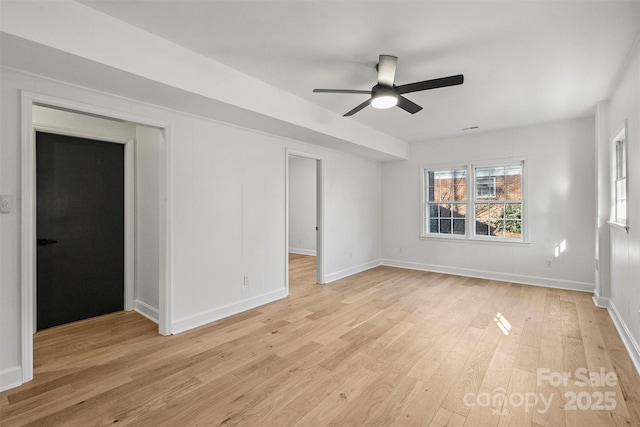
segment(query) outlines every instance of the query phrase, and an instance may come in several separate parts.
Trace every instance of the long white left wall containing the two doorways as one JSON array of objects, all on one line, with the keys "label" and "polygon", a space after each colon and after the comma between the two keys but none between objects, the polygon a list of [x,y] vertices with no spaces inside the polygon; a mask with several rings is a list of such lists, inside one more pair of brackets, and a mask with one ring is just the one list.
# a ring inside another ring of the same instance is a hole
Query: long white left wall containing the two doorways
[{"label": "long white left wall containing the two doorways", "polygon": [[[14,197],[12,213],[0,215],[0,389],[21,380],[20,89],[171,124],[168,237],[174,333],[287,294],[287,148],[323,157],[327,281],[378,264],[379,163],[13,70],[0,71],[0,194]],[[249,286],[243,286],[244,275],[250,277]]]}]

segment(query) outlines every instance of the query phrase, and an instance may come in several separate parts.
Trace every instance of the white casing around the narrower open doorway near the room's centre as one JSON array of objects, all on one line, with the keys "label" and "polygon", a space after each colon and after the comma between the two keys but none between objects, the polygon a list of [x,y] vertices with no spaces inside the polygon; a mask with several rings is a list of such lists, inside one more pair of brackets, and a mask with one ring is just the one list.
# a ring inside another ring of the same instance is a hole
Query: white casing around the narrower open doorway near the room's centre
[{"label": "white casing around the narrower open doorway near the room's centre", "polygon": [[285,157],[285,278],[286,288],[289,289],[289,159],[304,157],[316,162],[316,283],[326,283],[324,277],[324,183],[323,156],[303,151],[286,149]]}]

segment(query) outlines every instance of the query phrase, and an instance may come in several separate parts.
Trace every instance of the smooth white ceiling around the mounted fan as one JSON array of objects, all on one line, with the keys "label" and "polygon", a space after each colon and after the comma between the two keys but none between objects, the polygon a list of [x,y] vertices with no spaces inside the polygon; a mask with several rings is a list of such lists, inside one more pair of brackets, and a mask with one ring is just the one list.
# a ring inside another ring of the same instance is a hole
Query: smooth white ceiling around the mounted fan
[{"label": "smooth white ceiling around the mounted fan", "polygon": [[82,3],[339,115],[367,95],[312,90],[370,89],[379,54],[399,57],[397,84],[464,74],[406,95],[415,115],[344,118],[407,142],[592,115],[640,34],[640,1]]}]

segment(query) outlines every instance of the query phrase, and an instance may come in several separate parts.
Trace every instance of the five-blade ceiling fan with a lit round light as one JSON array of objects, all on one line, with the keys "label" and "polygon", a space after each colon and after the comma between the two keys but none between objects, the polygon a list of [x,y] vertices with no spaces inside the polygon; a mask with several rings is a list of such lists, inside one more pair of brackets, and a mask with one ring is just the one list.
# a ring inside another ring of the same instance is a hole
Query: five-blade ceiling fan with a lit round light
[{"label": "five-blade ceiling fan with a lit round light", "polygon": [[398,58],[395,56],[380,55],[380,60],[378,61],[378,65],[376,65],[376,69],[378,70],[378,84],[372,87],[371,90],[314,89],[313,91],[316,93],[356,93],[371,95],[371,98],[344,114],[345,117],[353,116],[369,104],[371,104],[373,108],[379,109],[391,108],[397,105],[403,110],[415,114],[422,110],[422,107],[402,96],[405,93],[461,85],[464,82],[464,76],[458,74],[456,76],[441,77],[439,79],[424,80],[422,82],[396,86],[394,80],[397,63]]}]

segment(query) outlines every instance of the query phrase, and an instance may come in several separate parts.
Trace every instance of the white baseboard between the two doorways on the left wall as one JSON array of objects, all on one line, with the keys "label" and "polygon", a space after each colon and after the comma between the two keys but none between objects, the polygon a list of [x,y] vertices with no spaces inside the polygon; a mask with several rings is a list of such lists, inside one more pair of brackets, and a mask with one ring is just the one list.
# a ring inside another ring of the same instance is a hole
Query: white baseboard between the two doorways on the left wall
[{"label": "white baseboard between the two doorways on the left wall", "polygon": [[182,319],[178,319],[172,323],[171,333],[178,334],[189,329],[197,328],[198,326],[206,325],[207,323],[215,322],[216,320],[220,320],[222,318],[229,317],[234,314],[238,314],[243,311],[250,310],[252,308],[256,308],[261,305],[285,298],[287,295],[288,290],[282,288],[276,291],[268,292],[266,294],[238,301],[233,304],[218,307],[213,310],[208,310],[188,317],[183,317]]}]

